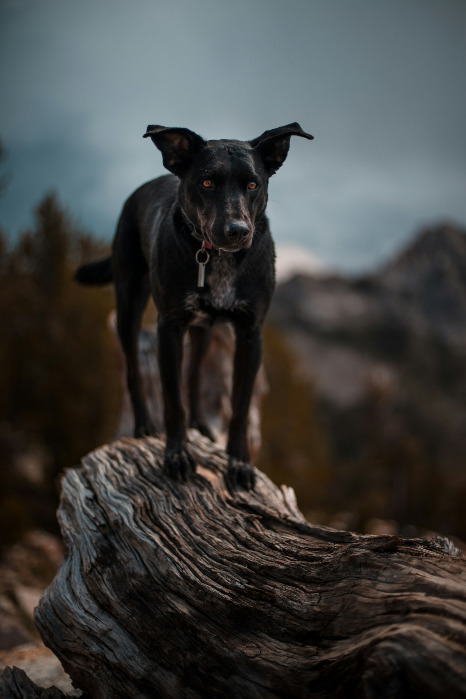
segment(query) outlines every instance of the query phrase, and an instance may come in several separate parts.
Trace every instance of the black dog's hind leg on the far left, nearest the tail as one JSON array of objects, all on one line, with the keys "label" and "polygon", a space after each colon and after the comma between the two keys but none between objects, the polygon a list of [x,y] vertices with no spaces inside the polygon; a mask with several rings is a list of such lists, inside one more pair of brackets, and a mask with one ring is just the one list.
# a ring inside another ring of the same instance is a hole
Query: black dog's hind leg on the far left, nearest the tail
[{"label": "black dog's hind leg on the far left, nearest the tail", "polygon": [[156,429],[147,412],[138,356],[140,325],[150,291],[147,271],[136,267],[128,278],[115,280],[115,290],[118,335],[126,356],[128,389],[134,410],[134,435],[154,435]]}]

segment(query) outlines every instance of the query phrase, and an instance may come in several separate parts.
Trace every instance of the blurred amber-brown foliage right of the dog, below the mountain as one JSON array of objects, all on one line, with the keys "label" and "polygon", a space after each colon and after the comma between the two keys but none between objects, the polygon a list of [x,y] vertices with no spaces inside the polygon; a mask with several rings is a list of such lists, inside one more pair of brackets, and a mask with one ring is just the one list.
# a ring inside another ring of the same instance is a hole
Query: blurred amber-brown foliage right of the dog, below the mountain
[{"label": "blurred amber-brown foliage right of the dog, below the mountain", "polygon": [[[391,533],[466,538],[464,454],[454,463],[442,459],[438,435],[407,395],[374,382],[358,408],[335,410],[272,325],[264,329],[264,363],[270,392],[257,466],[295,489],[311,521],[379,533],[377,521],[390,523]],[[428,394],[425,409],[432,411]]]}]

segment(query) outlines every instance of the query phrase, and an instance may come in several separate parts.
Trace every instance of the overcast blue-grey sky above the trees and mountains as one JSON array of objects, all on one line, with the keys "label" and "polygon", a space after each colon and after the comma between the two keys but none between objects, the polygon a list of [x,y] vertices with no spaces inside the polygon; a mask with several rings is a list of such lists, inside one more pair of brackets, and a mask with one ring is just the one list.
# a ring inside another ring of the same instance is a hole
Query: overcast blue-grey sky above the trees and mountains
[{"label": "overcast blue-grey sky above the trees and mountains", "polygon": [[57,189],[111,238],[163,174],[147,124],[254,138],[298,121],[270,180],[279,243],[348,270],[466,224],[464,0],[0,0],[11,233]]}]

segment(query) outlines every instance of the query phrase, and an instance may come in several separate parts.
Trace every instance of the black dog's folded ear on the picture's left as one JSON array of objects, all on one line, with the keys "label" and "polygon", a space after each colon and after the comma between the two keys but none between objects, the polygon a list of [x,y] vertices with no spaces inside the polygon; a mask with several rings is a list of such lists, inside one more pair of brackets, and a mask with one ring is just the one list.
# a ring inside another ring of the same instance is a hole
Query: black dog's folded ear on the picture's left
[{"label": "black dog's folded ear on the picture's left", "polygon": [[163,165],[174,175],[187,171],[205,140],[189,129],[167,129],[149,124],[143,138],[150,136],[163,157]]}]

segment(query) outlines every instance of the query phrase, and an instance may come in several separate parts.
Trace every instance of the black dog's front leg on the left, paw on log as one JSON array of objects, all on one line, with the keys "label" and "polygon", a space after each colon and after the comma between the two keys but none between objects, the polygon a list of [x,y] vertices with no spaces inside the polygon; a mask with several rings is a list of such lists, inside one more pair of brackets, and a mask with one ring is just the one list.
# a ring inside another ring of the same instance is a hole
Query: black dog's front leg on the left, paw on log
[{"label": "black dog's front leg on the left, paw on log", "polygon": [[186,442],[186,423],[181,401],[181,361],[184,326],[159,319],[159,368],[165,410],[165,470],[175,480],[188,480],[196,463]]}]

